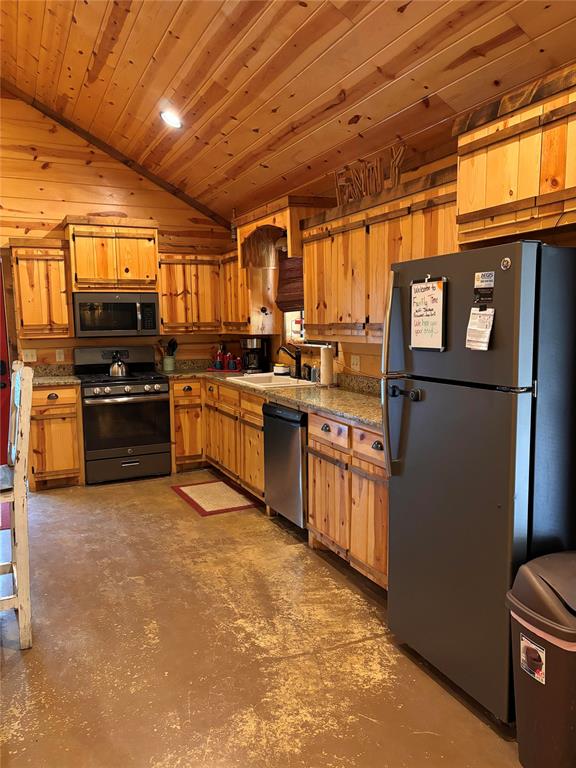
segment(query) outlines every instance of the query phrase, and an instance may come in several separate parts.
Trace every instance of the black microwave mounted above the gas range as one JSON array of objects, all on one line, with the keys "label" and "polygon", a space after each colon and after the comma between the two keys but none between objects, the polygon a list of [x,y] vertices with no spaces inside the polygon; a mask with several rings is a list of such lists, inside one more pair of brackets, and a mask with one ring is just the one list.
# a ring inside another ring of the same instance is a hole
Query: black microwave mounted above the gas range
[{"label": "black microwave mounted above the gas range", "polygon": [[76,336],[157,336],[158,294],[74,293]]}]

